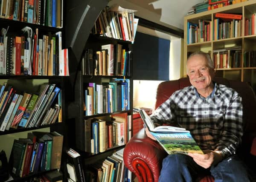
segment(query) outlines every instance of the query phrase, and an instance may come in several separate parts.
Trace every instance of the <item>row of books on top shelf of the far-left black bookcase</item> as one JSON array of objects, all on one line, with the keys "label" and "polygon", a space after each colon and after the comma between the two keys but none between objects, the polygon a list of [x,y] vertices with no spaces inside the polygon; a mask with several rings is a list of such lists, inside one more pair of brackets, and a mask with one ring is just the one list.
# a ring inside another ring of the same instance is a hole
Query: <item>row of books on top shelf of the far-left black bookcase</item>
[{"label": "row of books on top shelf of the far-left black bookcase", "polygon": [[1,0],[0,17],[62,28],[63,0]]}]

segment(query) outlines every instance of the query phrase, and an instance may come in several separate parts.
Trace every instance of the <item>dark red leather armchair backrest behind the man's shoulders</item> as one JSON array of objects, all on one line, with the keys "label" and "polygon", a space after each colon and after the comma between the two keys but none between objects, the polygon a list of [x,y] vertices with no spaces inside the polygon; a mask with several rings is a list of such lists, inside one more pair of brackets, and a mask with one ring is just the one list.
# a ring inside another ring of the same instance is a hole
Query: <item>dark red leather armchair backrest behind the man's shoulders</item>
[{"label": "dark red leather armchair backrest behind the man's shoulders", "polygon": [[[226,78],[214,79],[217,83],[226,85],[236,90],[242,97],[243,102],[243,119],[244,119],[244,147],[251,146],[253,136],[251,133],[256,133],[256,96],[253,89],[247,82],[230,81]],[[157,87],[155,108],[166,101],[173,92],[190,86],[189,78],[180,78],[174,81],[164,81]],[[249,148],[247,149],[249,150]]]}]

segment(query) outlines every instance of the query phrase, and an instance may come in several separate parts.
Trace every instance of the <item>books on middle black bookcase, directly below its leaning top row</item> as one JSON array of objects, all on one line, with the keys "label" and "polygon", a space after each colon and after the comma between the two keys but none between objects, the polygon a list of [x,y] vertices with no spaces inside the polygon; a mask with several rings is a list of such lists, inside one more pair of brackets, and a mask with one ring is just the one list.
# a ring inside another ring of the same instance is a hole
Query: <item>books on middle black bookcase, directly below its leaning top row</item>
[{"label": "books on middle black bookcase, directly below its leaning top row", "polygon": [[121,44],[102,45],[99,51],[86,49],[82,60],[83,75],[129,76],[131,51]]}]

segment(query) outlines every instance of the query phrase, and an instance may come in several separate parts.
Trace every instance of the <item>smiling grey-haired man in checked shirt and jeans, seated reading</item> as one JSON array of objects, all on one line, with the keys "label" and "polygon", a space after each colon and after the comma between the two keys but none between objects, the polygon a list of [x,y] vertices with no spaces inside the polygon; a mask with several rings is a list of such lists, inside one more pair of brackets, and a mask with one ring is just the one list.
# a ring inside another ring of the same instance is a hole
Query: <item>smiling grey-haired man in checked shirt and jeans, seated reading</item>
[{"label": "smiling grey-haired man in checked shirt and jeans, seated reading", "polygon": [[[160,182],[194,182],[211,174],[215,182],[248,182],[244,164],[235,155],[241,142],[242,100],[233,89],[213,81],[210,56],[195,52],[188,58],[192,84],[174,92],[151,119],[155,124],[177,124],[189,130],[204,154],[171,154],[163,160]],[[147,136],[154,137],[146,129]]]}]

